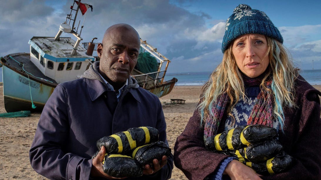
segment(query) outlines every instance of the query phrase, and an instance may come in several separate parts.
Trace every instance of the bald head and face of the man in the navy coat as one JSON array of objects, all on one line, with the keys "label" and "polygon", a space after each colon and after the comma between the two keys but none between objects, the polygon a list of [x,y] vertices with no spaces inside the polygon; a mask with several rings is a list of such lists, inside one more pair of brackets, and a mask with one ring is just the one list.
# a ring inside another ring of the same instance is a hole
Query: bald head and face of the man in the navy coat
[{"label": "bald head and face of the man in the navy coat", "polygon": [[106,80],[123,84],[134,69],[140,48],[140,40],[134,30],[118,27],[105,35],[103,44],[97,47],[100,57],[99,70]]}]

